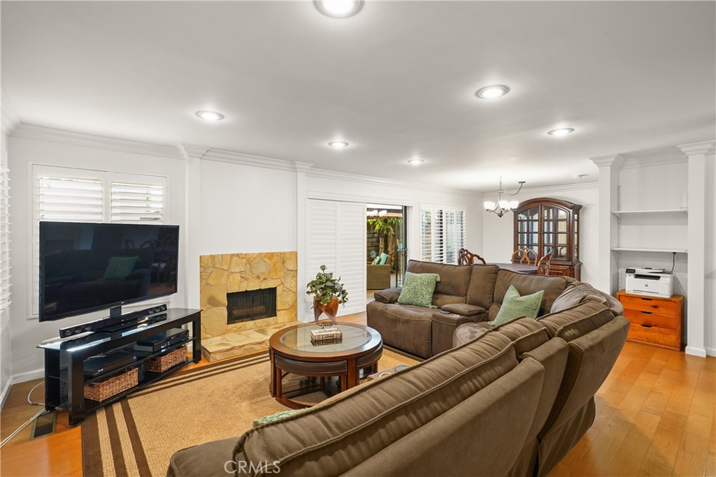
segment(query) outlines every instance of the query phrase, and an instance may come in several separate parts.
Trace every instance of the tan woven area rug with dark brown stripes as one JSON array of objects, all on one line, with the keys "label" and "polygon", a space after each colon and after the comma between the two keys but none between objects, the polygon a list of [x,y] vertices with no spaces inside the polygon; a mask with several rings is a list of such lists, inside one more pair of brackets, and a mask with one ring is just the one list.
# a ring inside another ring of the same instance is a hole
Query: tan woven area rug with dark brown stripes
[{"label": "tan woven area rug with dark brown stripes", "polygon": [[[379,369],[416,361],[384,350]],[[180,371],[82,423],[84,477],[164,476],[176,451],[241,436],[256,418],[286,410],[271,398],[269,354]]]}]

